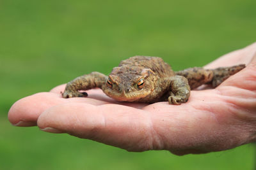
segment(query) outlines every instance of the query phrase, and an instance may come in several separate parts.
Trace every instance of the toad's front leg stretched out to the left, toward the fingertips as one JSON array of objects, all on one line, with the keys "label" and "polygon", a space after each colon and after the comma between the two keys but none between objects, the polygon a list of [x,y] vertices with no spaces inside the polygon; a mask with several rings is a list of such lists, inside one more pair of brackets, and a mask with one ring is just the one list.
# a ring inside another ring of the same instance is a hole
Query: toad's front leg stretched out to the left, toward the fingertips
[{"label": "toad's front leg stretched out to the left, toward the fingertips", "polygon": [[102,85],[106,83],[107,78],[108,76],[99,72],[92,72],[90,74],[79,76],[67,83],[67,86],[62,96],[64,98],[86,97],[87,93],[81,93],[79,92],[79,90],[89,90],[97,87],[101,88]]}]

